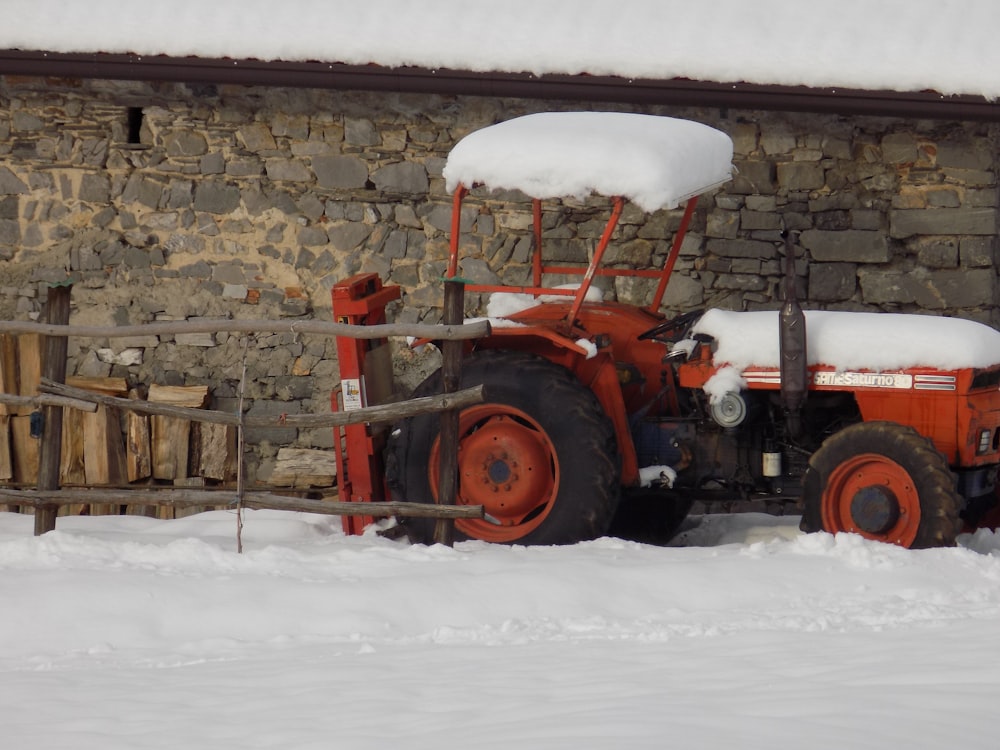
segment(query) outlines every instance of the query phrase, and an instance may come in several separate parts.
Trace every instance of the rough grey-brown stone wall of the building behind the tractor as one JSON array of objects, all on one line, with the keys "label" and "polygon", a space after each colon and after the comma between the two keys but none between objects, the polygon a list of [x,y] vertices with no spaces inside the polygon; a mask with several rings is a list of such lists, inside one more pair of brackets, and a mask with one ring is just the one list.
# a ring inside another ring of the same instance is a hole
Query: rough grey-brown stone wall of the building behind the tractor
[{"label": "rough grey-brown stone wall of the building behind the tractor", "polygon": [[[450,200],[441,169],[466,133],[519,114],[607,109],[474,97],[109,81],[0,79],[0,315],[40,313],[74,280],[73,322],[329,319],[330,288],[375,271],[405,291],[395,320],[436,322]],[[807,307],[914,311],[1000,324],[993,124],[656,108],[733,136],[736,179],[701,201],[671,310],[773,307],[782,226],[801,232]],[[555,257],[582,261],[603,227],[592,201],[546,213]],[[657,262],[677,212],[629,208],[612,260]],[[530,217],[476,193],[463,275],[527,274]],[[641,300],[643,285],[609,294]],[[469,312],[478,300],[470,299]],[[208,384],[235,408],[248,352],[251,413],[326,410],[334,342],[217,333],[71,340],[70,371],[142,385]],[[401,352],[405,385],[425,367]],[[251,475],[277,446],[329,431],[250,436]],[[252,477],[251,477],[252,478]]]}]

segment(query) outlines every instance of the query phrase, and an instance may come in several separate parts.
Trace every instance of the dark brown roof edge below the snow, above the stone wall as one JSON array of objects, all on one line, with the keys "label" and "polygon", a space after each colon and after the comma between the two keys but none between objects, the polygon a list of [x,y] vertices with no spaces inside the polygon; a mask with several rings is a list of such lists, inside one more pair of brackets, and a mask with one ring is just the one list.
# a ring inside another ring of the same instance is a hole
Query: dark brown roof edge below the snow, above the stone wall
[{"label": "dark brown roof edge below the snow, above the stone wall", "polygon": [[0,75],[523,97],[639,105],[1000,121],[1000,103],[933,91],[765,86],[687,79],[480,73],[418,67],[0,50]]}]

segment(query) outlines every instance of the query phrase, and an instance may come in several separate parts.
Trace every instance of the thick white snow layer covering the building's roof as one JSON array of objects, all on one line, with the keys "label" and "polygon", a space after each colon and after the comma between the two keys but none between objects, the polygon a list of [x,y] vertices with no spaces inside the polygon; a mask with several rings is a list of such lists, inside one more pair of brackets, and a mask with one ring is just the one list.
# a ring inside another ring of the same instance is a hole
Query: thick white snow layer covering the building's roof
[{"label": "thick white snow layer covering the building's roof", "polygon": [[[5,0],[0,49],[1000,96],[989,0]],[[923,54],[929,44],[940,54]]]}]

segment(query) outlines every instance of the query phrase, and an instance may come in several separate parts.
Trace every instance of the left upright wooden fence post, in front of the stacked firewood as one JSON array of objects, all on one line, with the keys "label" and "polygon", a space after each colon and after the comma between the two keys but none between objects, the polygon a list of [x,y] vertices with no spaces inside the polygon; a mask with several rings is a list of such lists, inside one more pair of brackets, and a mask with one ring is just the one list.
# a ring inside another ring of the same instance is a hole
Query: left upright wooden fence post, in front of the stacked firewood
[{"label": "left upright wooden fence post, in front of the stacked firewood", "polygon": [[[46,320],[49,324],[69,323],[69,301],[73,290],[70,283],[49,287]],[[65,336],[45,336],[42,340],[42,377],[62,383],[66,380],[66,353],[69,340]],[[38,463],[38,489],[59,488],[59,464],[62,461],[62,407],[42,407],[42,442]],[[56,527],[55,505],[41,505],[35,510],[35,536]]]}]

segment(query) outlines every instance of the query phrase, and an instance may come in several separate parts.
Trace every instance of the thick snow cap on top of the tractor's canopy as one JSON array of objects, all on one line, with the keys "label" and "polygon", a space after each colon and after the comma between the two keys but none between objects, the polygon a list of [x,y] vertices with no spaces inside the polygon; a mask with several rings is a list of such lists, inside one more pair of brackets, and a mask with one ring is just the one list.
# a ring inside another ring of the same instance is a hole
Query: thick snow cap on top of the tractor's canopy
[{"label": "thick snow cap on top of the tractor's canopy", "polygon": [[728,181],[733,142],[690,120],[621,112],[543,112],[477,130],[448,156],[459,184],[532,198],[620,195],[645,211],[674,208]]}]

